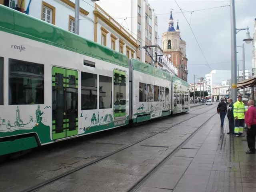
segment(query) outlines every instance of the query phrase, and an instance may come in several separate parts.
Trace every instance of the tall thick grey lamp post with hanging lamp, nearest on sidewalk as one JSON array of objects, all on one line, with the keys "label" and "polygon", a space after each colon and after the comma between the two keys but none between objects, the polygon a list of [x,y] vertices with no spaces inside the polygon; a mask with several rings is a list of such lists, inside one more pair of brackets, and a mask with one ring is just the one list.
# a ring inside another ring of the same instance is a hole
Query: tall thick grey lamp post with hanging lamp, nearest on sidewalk
[{"label": "tall thick grey lamp post with hanging lamp, nearest on sidewalk", "polygon": [[[236,74],[236,34],[241,30],[247,30],[246,38],[244,41],[246,43],[252,42],[250,37],[249,28],[236,28],[236,13],[235,13],[235,0],[230,0],[230,10],[231,10],[231,98],[236,100],[237,96],[237,74]],[[238,32],[236,32],[238,30]]]}]

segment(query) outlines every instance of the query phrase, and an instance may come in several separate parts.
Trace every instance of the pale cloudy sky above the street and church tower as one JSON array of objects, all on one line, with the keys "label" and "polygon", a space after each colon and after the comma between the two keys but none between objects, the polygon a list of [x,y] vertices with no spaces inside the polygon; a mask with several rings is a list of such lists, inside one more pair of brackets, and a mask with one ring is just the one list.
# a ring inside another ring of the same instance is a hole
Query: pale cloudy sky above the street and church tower
[{"label": "pale cloudy sky above the street and church tower", "polygon": [[[230,5],[230,0],[176,0],[196,36],[194,37],[188,22],[180,12],[174,0],[148,0],[158,16],[158,34],[160,40],[162,33],[168,28],[170,10],[173,18],[179,20],[181,38],[186,41],[186,55],[188,58],[188,82],[194,82],[194,74],[204,77],[211,70],[231,70],[231,26],[230,6],[208,9],[218,6]],[[236,28],[249,27],[250,36],[253,38],[254,19],[256,18],[256,0],[236,0]],[[194,11],[192,14],[186,11]],[[166,14],[164,14],[166,13]],[[245,48],[245,69],[252,70],[252,43],[246,44],[243,39],[246,30],[238,32],[236,44]],[[198,46],[196,39],[202,49]],[[237,48],[237,60],[242,69],[242,48]],[[205,56],[205,58],[204,58]],[[209,66],[207,65],[209,64]],[[196,80],[197,82],[198,80]]]}]

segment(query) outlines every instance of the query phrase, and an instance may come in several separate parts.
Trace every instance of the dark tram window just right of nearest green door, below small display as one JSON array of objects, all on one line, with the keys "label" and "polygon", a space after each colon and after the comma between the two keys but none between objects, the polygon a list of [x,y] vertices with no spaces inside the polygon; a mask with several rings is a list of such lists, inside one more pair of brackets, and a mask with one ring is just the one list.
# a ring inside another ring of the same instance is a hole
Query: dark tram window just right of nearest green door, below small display
[{"label": "dark tram window just right of nearest green door, below small display", "polygon": [[81,72],[81,109],[97,109],[97,74]]}]

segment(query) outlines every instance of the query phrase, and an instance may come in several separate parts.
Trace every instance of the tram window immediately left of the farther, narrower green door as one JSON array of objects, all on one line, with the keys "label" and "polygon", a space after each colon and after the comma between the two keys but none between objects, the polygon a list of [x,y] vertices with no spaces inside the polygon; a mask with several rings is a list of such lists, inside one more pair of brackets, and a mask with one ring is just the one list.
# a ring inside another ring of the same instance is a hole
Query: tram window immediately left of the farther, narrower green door
[{"label": "tram window immediately left of the farther, narrower green door", "polygon": [[112,78],[100,75],[100,109],[112,108]]}]

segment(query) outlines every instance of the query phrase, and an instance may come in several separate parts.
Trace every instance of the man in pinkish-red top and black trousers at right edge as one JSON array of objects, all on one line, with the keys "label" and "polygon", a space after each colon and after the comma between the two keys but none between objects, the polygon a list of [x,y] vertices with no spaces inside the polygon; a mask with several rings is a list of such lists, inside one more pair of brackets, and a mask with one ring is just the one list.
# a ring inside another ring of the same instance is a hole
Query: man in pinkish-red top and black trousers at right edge
[{"label": "man in pinkish-red top and black trousers at right edge", "polygon": [[254,154],[255,149],[255,137],[256,137],[256,108],[254,107],[254,100],[248,101],[248,110],[245,113],[245,122],[248,125],[247,129],[247,144],[249,150],[247,154]]}]

